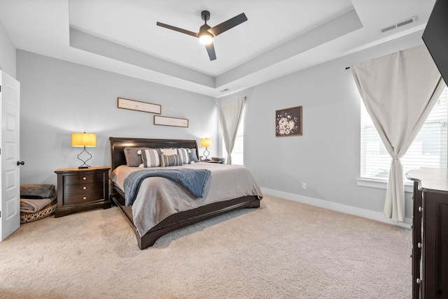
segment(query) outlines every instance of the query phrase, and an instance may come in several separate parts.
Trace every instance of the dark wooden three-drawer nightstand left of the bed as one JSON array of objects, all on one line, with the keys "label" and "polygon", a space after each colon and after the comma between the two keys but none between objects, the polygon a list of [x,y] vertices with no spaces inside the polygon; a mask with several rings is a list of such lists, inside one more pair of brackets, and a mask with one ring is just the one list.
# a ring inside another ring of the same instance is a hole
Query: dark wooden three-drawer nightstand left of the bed
[{"label": "dark wooden three-drawer nightstand left of the bed", "polygon": [[63,168],[57,173],[55,218],[71,212],[111,207],[107,166],[88,169]]}]

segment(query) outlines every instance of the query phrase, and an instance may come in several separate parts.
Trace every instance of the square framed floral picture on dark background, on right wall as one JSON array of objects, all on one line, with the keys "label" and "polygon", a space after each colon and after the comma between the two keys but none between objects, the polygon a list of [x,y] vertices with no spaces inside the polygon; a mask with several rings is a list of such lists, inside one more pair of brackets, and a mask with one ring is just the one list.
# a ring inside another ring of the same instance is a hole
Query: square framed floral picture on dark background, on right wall
[{"label": "square framed floral picture on dark background, on right wall", "polygon": [[275,136],[302,136],[302,106],[276,110]]}]

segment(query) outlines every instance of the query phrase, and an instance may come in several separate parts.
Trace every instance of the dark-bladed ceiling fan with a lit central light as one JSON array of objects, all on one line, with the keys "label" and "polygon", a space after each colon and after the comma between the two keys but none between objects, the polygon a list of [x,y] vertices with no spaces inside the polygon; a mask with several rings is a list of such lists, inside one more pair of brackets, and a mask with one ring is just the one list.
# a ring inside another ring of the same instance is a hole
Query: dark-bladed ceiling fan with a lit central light
[{"label": "dark-bladed ceiling fan with a lit central light", "polygon": [[228,31],[229,29],[241,24],[242,22],[247,21],[246,15],[244,13],[241,13],[237,15],[236,17],[232,17],[231,19],[222,22],[221,24],[216,25],[215,27],[210,27],[207,24],[207,21],[210,20],[210,12],[208,10],[203,10],[201,13],[202,20],[204,20],[205,24],[203,24],[199,32],[193,32],[188,31],[186,29],[181,29],[178,27],[174,27],[168,24],[163,24],[161,22],[157,22],[157,25],[160,27],[165,27],[167,29],[172,29],[174,31],[181,32],[183,34],[188,34],[190,36],[195,36],[196,38],[199,38],[199,41],[205,45],[205,48],[207,49],[207,53],[209,54],[210,60],[216,59],[216,53],[215,53],[215,47],[213,45],[213,38],[215,36],[218,36],[219,34],[222,34],[225,31]]}]

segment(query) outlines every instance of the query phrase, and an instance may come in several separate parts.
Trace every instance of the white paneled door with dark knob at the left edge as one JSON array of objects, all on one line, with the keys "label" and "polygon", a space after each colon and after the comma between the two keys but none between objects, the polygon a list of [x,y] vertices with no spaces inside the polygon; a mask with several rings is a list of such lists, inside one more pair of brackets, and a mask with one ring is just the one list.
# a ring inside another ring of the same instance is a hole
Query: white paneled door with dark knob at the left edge
[{"label": "white paneled door with dark knob at the left edge", "polygon": [[20,83],[0,71],[0,241],[20,227]]}]

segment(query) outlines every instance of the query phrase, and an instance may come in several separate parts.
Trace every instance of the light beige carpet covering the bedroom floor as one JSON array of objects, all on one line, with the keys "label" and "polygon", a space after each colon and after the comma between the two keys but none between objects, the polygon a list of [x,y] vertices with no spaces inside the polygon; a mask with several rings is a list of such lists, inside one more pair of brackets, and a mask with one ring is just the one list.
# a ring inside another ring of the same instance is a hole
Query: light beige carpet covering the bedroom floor
[{"label": "light beige carpet covering the bedroom floor", "polygon": [[118,207],[22,224],[0,298],[411,298],[410,230],[265,196],[140,250]]}]

